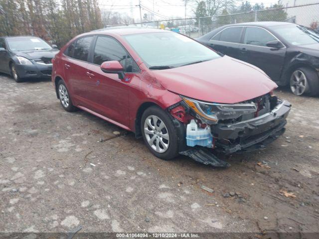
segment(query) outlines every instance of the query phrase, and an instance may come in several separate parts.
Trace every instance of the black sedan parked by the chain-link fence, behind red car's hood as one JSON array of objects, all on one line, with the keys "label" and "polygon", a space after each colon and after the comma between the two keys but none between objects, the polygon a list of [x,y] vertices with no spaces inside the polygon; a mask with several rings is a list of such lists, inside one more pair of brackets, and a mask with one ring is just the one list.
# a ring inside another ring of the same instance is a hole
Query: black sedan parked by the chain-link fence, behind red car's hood
[{"label": "black sedan parked by the chain-link fence, behind red car's hood", "polygon": [[295,95],[319,95],[319,34],[288,22],[225,25],[197,39],[251,63]]}]

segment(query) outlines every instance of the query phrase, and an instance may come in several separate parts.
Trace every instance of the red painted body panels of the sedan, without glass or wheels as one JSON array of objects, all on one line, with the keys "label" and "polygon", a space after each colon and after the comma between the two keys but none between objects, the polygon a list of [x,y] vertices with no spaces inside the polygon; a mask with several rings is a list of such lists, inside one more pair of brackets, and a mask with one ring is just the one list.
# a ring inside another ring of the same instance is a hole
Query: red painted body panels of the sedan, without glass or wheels
[{"label": "red painted body panels of the sedan, without glass or wheels", "polygon": [[132,131],[135,131],[137,112],[145,103],[166,109],[181,100],[178,94],[207,102],[237,103],[277,87],[258,68],[227,56],[173,69],[149,70],[121,36],[131,33],[134,33],[132,29],[114,29],[80,36],[96,34],[116,38],[137,62],[140,73],[126,73],[121,80],[117,74],[104,73],[100,66],[65,56],[63,52],[74,38],[53,60],[53,83],[56,77],[62,78],[75,106]]}]

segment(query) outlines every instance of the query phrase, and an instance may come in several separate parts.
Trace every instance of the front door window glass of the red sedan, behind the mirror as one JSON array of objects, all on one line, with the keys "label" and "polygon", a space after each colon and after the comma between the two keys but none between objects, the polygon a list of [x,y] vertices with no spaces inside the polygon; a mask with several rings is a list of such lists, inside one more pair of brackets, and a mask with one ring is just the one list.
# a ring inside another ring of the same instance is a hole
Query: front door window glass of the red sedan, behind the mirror
[{"label": "front door window glass of the red sedan, behind the mirror", "polygon": [[101,65],[104,61],[119,61],[125,72],[139,72],[140,69],[115,39],[108,36],[98,36],[95,44],[93,63]]}]

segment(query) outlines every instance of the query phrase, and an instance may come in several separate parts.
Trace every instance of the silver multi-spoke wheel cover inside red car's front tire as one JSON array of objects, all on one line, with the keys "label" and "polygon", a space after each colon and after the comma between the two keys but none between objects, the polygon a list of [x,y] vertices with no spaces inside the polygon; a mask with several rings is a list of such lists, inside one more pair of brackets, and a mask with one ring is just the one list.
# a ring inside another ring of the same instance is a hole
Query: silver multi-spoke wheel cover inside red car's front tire
[{"label": "silver multi-spoke wheel cover inside red car's front tire", "polygon": [[158,153],[163,153],[169,146],[169,134],[163,120],[151,115],[145,119],[144,133],[149,145]]}]

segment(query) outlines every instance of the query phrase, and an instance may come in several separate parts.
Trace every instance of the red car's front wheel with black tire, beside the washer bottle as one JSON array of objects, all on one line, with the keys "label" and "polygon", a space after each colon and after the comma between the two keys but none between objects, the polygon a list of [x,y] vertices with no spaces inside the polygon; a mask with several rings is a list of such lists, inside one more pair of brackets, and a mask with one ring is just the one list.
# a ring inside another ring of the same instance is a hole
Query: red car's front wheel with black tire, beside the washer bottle
[{"label": "red car's front wheel with black tire, beside the washer bottle", "polygon": [[173,121],[160,107],[145,110],[141,129],[147,147],[155,156],[170,160],[178,155],[178,137]]}]

